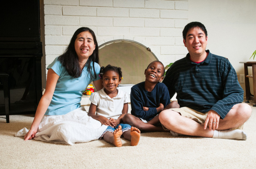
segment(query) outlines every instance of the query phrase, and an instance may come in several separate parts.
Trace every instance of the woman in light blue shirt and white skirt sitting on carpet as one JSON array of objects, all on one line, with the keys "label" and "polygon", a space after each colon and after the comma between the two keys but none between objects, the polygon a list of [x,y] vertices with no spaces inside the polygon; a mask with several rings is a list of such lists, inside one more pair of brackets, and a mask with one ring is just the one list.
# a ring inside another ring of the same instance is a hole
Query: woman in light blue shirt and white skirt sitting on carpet
[{"label": "woman in light blue shirt and white skirt sitting on carpet", "polygon": [[106,126],[89,117],[80,106],[82,92],[93,81],[102,89],[99,79],[98,43],[90,28],[76,30],[63,55],[47,69],[45,93],[25,140],[39,139],[74,144],[101,136]]}]

